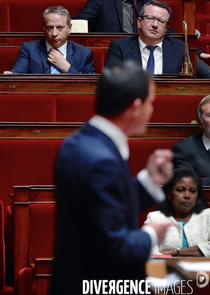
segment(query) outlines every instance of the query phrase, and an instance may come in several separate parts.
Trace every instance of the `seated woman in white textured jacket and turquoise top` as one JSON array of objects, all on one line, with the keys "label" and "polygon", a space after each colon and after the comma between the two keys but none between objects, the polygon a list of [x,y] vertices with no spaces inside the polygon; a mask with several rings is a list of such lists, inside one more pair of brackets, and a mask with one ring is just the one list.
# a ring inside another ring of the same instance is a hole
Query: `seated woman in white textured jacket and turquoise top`
[{"label": "seated woman in white textured jacket and turquoise top", "polygon": [[191,169],[176,169],[163,189],[166,200],[147,215],[145,224],[170,221],[171,227],[151,254],[210,256],[210,208],[202,193],[201,178]]}]

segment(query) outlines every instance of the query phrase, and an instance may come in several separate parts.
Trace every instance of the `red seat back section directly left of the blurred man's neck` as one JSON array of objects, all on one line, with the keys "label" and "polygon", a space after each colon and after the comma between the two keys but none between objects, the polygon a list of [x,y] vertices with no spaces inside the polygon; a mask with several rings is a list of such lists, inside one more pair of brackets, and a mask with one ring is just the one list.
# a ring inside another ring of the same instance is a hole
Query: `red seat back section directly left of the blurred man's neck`
[{"label": "red seat back section directly left of the blurred man's neck", "polygon": [[56,122],[84,122],[95,111],[96,95],[56,95]]}]

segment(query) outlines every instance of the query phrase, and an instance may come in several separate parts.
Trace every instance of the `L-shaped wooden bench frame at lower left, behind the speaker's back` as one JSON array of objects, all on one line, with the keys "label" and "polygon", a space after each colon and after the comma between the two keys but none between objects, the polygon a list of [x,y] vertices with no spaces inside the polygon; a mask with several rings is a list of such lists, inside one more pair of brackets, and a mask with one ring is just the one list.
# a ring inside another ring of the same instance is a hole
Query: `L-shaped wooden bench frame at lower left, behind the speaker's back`
[{"label": "L-shaped wooden bench frame at lower left, behind the speaker's back", "polygon": [[18,294],[19,271],[29,266],[29,205],[55,203],[55,186],[13,186],[12,222],[14,230],[14,294]]}]

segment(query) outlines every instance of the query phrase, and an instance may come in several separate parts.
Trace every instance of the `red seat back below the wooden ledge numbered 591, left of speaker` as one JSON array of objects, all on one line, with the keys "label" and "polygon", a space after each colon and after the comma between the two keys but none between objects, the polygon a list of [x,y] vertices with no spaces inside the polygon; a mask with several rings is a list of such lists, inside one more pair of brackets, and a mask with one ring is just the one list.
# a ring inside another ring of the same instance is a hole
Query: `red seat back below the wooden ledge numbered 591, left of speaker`
[{"label": "red seat back below the wooden ledge numbered 591, left of speaker", "polygon": [[54,166],[61,142],[59,139],[0,140],[0,199],[4,204],[4,223],[13,185],[54,184]]}]

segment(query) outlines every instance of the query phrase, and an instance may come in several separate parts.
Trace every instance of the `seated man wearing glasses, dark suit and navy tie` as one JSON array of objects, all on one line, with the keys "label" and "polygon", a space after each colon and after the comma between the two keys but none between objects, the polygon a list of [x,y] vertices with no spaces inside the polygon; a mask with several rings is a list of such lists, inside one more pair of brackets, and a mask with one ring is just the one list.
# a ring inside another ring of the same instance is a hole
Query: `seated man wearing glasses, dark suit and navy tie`
[{"label": "seated man wearing glasses, dark suit and navy tie", "polygon": [[165,2],[146,3],[138,18],[139,35],[112,41],[106,65],[130,59],[151,74],[179,74],[185,60],[185,42],[165,36],[171,13]]}]

